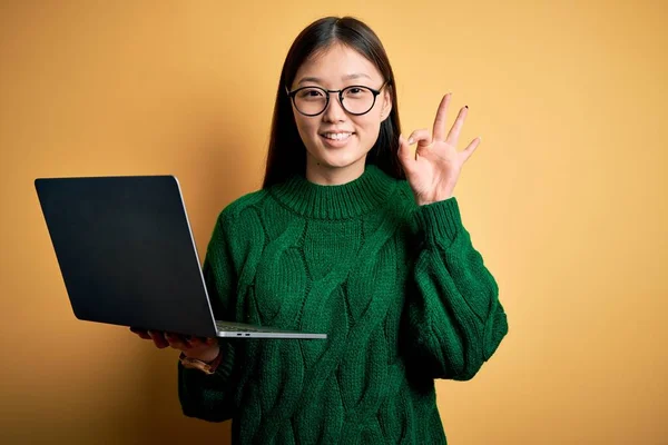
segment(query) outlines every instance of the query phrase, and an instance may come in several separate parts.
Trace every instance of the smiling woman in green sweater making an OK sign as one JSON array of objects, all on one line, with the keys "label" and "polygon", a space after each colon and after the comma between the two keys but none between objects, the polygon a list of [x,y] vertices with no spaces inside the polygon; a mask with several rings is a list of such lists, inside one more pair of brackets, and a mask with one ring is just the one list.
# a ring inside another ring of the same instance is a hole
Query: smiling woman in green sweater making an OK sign
[{"label": "smiling woman in green sweater making an OK sign", "polygon": [[222,211],[204,271],[217,317],[328,337],[139,333],[183,352],[186,415],[233,418],[243,444],[445,443],[434,378],[473,377],[508,330],[453,197],[480,139],[455,149],[468,109],[446,131],[450,98],[433,134],[405,139],[373,31],[352,18],[302,31],[264,187]]}]

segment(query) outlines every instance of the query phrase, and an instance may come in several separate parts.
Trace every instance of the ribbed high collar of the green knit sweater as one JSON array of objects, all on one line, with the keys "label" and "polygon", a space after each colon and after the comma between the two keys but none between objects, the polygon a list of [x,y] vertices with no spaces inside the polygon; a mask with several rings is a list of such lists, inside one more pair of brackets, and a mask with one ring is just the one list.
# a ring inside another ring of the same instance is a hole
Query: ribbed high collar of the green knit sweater
[{"label": "ribbed high collar of the green knit sweater", "polygon": [[361,177],[338,186],[321,186],[304,176],[294,176],[272,187],[272,195],[284,206],[306,218],[350,219],[381,204],[396,187],[396,181],[374,165]]}]

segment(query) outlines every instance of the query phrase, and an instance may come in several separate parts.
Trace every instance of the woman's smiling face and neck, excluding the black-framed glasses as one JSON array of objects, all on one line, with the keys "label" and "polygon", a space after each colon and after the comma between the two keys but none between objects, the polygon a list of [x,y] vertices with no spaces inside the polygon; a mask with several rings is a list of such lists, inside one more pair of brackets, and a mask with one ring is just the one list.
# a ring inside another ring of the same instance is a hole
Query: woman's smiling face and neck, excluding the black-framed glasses
[{"label": "woman's smiling face and neck, excluding the black-framed glasses", "polygon": [[[291,91],[302,87],[340,90],[364,86],[379,90],[385,79],[377,68],[357,51],[334,44],[307,59],[297,70]],[[344,102],[353,107],[356,90]],[[366,154],[375,144],[381,122],[390,116],[392,97],[383,88],[371,111],[362,116],[347,112],[337,93],[330,95],[325,111],[304,116],[294,106],[297,130],[306,147],[306,178],[315,184],[345,184],[364,172]]]}]

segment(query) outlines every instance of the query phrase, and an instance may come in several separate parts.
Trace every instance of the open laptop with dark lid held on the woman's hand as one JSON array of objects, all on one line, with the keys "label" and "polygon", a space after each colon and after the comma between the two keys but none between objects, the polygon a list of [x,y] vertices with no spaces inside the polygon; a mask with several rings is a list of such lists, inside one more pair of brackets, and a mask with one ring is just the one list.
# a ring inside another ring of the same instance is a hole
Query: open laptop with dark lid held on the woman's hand
[{"label": "open laptop with dark lid held on the woman's hand", "polygon": [[324,339],[216,320],[175,176],[38,178],[75,316],[199,337]]}]

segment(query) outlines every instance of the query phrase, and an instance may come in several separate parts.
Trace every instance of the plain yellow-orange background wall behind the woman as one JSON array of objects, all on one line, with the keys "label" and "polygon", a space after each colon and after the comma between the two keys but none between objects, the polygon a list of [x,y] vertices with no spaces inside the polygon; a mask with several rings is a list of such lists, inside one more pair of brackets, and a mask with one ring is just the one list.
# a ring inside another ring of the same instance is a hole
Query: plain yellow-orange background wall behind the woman
[{"label": "plain yellow-orange background wall behind the woman", "polygon": [[326,14],[381,37],[404,134],[453,91],[462,148],[483,137],[456,195],[510,334],[438,383],[450,442],[667,443],[668,8],[540,3],[2,1],[0,443],[227,443],[181,416],[176,352],[75,319],[32,180],[177,175],[202,254],[259,187],[284,57]]}]

